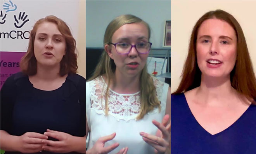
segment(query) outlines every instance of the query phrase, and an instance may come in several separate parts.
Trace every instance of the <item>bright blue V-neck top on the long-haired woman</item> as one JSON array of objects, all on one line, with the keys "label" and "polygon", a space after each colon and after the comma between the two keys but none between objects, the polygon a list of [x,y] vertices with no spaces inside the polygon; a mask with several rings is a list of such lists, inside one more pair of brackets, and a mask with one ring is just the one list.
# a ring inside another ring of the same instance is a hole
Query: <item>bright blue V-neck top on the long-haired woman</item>
[{"label": "bright blue V-neck top on the long-haired woman", "polygon": [[256,106],[211,135],[195,119],[184,93],[171,95],[171,154],[256,154]]}]

